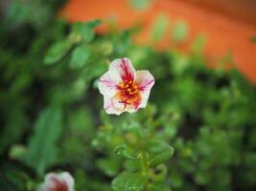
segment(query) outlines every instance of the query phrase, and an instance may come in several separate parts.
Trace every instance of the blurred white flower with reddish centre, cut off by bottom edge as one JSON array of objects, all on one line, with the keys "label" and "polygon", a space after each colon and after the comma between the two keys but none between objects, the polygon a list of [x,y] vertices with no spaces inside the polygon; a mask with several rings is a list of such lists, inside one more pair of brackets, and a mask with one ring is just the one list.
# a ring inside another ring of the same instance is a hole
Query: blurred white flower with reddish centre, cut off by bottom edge
[{"label": "blurred white flower with reddish centre, cut off by bottom edge", "polygon": [[75,191],[74,179],[68,172],[49,173],[37,191]]}]

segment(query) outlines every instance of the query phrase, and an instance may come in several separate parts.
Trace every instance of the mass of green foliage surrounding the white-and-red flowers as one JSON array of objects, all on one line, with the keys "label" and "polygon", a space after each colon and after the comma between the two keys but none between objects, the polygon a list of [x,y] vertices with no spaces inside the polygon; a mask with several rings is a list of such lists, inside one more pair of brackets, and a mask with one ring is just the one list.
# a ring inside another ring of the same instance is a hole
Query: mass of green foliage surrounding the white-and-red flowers
[{"label": "mass of green foliage surrounding the white-and-red flowers", "polygon": [[[60,1],[32,2],[13,1],[1,20],[0,190],[35,190],[61,170],[79,191],[255,189],[256,89],[222,69],[232,59],[208,69],[201,35],[189,53],[157,52],[133,44],[134,29],[99,35],[99,20],[69,25],[54,17]],[[175,23],[170,40],[187,32]],[[124,56],[155,76],[151,104],[107,116],[97,82]]]}]

